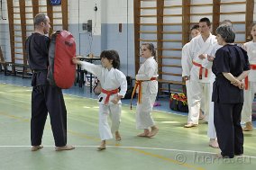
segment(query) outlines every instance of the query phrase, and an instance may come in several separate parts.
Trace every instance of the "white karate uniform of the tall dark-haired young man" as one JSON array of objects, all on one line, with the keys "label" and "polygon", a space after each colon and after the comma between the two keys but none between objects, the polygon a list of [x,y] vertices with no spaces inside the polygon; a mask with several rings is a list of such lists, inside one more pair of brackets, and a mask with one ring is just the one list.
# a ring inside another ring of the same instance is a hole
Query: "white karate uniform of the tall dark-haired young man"
[{"label": "white karate uniform of the tall dark-haired young man", "polygon": [[[210,34],[206,41],[203,40],[201,35],[198,35],[194,39],[190,41],[189,48],[188,48],[188,55],[190,58],[193,58],[193,61],[197,64],[202,65],[204,60],[200,59],[198,56],[201,54],[209,54],[212,52],[215,44],[215,35]],[[202,96],[204,96],[204,108],[202,110],[205,112],[206,118],[205,120],[208,121],[209,115],[209,88],[210,82],[209,77],[213,75],[212,69],[208,69],[208,75],[205,76],[206,69],[203,69],[202,79],[199,79],[199,70],[200,67],[197,67],[193,64],[191,71],[190,71],[190,79],[189,79],[189,88],[190,88],[190,106],[188,105],[188,118],[187,123],[198,124],[199,119],[199,110],[200,110],[200,103],[202,100]]]}]

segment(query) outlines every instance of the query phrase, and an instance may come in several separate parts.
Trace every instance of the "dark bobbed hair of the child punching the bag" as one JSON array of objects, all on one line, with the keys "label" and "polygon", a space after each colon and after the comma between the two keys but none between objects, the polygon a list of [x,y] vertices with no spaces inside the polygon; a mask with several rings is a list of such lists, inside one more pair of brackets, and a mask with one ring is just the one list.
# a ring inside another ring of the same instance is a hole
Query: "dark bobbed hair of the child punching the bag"
[{"label": "dark bobbed hair of the child punching the bag", "polygon": [[104,50],[101,52],[100,58],[107,58],[108,60],[112,60],[112,66],[114,68],[118,69],[120,67],[120,58],[116,50]]}]

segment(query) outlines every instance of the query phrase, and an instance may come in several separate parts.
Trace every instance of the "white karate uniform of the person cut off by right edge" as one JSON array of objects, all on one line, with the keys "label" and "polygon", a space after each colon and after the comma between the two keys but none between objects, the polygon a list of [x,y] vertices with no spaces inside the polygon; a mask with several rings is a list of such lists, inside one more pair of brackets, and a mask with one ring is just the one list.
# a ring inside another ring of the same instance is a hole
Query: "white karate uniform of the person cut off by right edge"
[{"label": "white karate uniform of the person cut off by right edge", "polygon": [[[249,41],[243,44],[247,51],[250,65],[256,65],[256,42]],[[243,91],[242,122],[251,121],[251,104],[256,93],[256,70],[251,69],[248,75],[248,89]]]}]

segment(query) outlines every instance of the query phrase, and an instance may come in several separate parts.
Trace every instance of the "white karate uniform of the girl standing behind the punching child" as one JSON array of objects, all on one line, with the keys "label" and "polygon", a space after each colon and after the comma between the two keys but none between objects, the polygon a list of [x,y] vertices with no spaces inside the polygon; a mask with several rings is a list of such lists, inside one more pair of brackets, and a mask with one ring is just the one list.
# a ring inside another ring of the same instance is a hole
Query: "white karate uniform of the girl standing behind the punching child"
[{"label": "white karate uniform of the girl standing behind the punching child", "polygon": [[142,103],[138,102],[136,107],[136,128],[139,130],[155,125],[151,112],[158,94],[158,82],[151,77],[158,77],[158,64],[154,57],[147,58],[136,75],[136,80],[142,80]]}]

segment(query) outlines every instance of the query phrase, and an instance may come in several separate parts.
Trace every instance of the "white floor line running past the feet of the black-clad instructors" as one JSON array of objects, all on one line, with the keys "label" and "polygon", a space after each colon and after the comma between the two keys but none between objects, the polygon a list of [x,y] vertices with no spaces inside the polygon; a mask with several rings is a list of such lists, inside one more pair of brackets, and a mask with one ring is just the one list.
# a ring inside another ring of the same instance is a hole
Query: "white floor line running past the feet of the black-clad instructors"
[{"label": "white floor line running past the feet of the black-clad instructors", "polygon": [[[0,148],[31,148],[32,146],[0,146]],[[83,146],[78,145],[74,146],[75,148],[97,148],[98,146]],[[43,146],[43,148],[55,148],[55,146]],[[122,146],[107,146],[107,148],[138,148],[138,149],[148,149],[148,150],[163,150],[163,151],[177,151],[177,152],[187,152],[187,153],[201,153],[201,154],[212,154],[216,155],[215,152],[206,152],[206,151],[199,151],[199,150],[181,150],[181,149],[174,149],[174,148],[144,148],[144,147],[122,147]],[[251,157],[256,158],[253,156],[239,156],[239,157]]]}]

